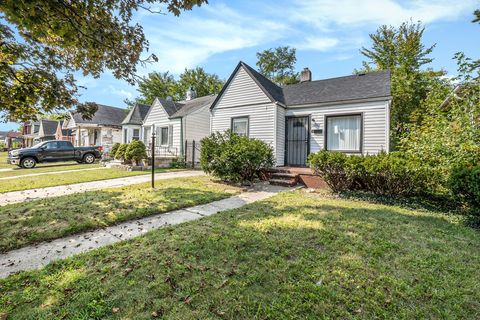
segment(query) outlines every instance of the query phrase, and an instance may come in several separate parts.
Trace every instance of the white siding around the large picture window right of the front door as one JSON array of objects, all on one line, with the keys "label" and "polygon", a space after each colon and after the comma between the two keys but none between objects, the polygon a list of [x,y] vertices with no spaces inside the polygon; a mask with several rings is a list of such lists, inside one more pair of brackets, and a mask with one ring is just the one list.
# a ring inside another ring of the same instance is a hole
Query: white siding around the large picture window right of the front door
[{"label": "white siding around the large picture window right of the front door", "polygon": [[388,152],[387,102],[369,102],[362,104],[344,104],[337,106],[305,107],[287,109],[287,116],[311,115],[312,129],[323,129],[322,134],[312,134],[310,152],[324,148],[325,116],[349,113],[363,114],[363,154],[376,154],[382,150]]}]

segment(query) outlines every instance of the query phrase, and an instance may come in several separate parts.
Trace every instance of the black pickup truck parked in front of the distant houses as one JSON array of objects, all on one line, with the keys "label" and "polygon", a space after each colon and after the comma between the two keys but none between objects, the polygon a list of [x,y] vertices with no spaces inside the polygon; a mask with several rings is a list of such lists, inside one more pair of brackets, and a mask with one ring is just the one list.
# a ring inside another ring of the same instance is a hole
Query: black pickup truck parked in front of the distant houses
[{"label": "black pickup truck parked in front of the distant houses", "polygon": [[51,140],[31,148],[12,150],[8,153],[7,162],[31,169],[42,162],[76,161],[91,164],[101,157],[102,147],[74,147],[70,141]]}]

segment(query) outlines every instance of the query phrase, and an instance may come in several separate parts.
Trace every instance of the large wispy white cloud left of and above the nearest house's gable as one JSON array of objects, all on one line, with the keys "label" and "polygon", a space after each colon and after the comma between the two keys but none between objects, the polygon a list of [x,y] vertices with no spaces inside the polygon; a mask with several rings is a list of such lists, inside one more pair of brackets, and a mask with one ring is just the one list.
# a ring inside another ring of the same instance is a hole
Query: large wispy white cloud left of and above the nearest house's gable
[{"label": "large wispy white cloud left of and above the nearest house's gable", "polygon": [[150,51],[159,58],[155,67],[180,73],[212,55],[277,40],[287,29],[280,22],[239,13],[226,5],[205,6],[195,13],[182,15],[181,23],[176,17],[160,16],[156,17],[160,23],[146,25]]}]

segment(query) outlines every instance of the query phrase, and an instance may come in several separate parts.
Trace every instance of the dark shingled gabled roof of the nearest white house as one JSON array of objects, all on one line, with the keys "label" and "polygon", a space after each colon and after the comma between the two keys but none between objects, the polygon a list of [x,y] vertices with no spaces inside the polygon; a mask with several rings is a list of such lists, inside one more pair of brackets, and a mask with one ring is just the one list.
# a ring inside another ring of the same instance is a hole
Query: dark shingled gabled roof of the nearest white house
[{"label": "dark shingled gabled roof of the nearest white house", "polygon": [[240,67],[246,70],[272,102],[278,102],[284,106],[390,98],[390,71],[388,70],[306,81],[280,87],[248,64],[240,61],[220,94],[212,103],[211,108],[217,104]]}]

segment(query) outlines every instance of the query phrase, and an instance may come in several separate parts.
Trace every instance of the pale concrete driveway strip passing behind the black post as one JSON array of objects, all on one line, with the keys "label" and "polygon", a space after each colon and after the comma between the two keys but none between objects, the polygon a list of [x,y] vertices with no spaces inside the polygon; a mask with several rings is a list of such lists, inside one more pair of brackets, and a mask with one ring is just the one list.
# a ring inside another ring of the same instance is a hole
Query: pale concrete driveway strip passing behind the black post
[{"label": "pale concrete driveway strip passing behind the black post", "polygon": [[[155,174],[156,180],[165,180],[172,178],[185,178],[205,175],[203,171],[174,171],[174,172],[162,172]],[[151,179],[151,175],[139,175],[130,176],[124,178],[116,178],[109,180],[82,182],[77,184],[38,188],[23,191],[13,191],[0,193],[0,206],[6,206],[7,204],[19,203],[25,201],[32,201],[37,199],[44,199],[50,197],[64,196],[72,193],[85,192],[91,190],[99,190],[105,188],[123,187],[131,184],[148,182]]]}]

